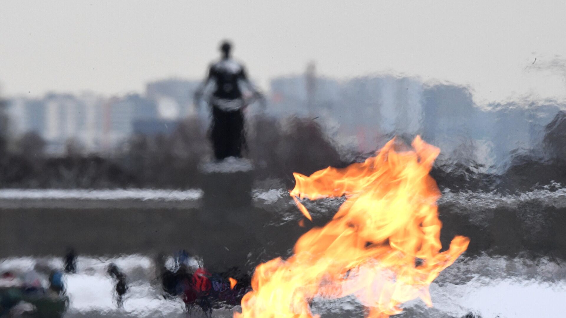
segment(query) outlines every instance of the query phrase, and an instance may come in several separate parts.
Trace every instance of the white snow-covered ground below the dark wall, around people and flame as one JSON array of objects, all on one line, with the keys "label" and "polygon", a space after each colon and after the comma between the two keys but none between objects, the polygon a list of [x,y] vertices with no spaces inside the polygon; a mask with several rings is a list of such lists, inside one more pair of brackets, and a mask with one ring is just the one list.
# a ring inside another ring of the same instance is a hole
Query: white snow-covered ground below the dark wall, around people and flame
[{"label": "white snow-covered ground below the dark wall, around people and flame", "polygon": [[[0,271],[32,269],[37,262],[62,266],[61,259],[6,259]],[[118,310],[113,299],[114,283],[105,274],[115,263],[128,277],[128,290],[123,308]],[[79,257],[78,273],[65,276],[70,297],[68,317],[136,316],[182,317],[181,300],[162,297],[155,281],[151,257],[130,255],[116,259]],[[430,287],[433,308],[421,300],[405,304],[408,317],[463,317],[472,312],[483,318],[499,317],[561,317],[566,296],[566,268],[547,259],[525,260],[479,256],[462,257],[440,274]],[[324,316],[361,314],[361,306],[351,299],[315,304]],[[195,315],[200,315],[195,310]],[[341,315],[342,313],[342,315]],[[231,316],[231,310],[217,310],[215,316]],[[405,316],[404,316],[405,317]]]}]

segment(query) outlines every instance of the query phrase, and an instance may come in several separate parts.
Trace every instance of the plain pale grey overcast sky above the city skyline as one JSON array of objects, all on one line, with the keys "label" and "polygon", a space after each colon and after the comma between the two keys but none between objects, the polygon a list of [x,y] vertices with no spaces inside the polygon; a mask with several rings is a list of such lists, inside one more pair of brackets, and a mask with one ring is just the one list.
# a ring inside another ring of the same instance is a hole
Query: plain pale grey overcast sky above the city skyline
[{"label": "plain pale grey overcast sky above the city skyline", "polygon": [[564,12],[565,1],[3,0],[0,83],[8,96],[142,92],[201,78],[230,38],[264,88],[314,60],[337,78],[469,85],[478,102],[564,98]]}]

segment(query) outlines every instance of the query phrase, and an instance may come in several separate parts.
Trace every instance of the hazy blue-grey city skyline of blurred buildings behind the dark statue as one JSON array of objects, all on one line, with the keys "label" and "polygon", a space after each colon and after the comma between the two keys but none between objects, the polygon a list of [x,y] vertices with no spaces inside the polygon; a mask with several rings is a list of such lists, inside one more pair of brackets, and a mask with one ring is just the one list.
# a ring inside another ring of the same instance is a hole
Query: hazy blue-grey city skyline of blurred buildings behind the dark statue
[{"label": "hazy blue-grey city skyline of blurred buildings behind the dark statue", "polygon": [[[265,115],[283,127],[292,118],[315,121],[339,148],[354,152],[371,152],[385,136],[418,134],[439,145],[441,157],[475,160],[484,165],[482,169],[498,169],[514,149],[539,147],[543,136],[539,132],[566,109],[566,103],[556,102],[495,103],[484,108],[475,104],[469,88],[428,86],[413,78],[367,76],[348,82],[315,78],[308,85],[309,75],[273,79]],[[191,101],[197,84],[153,81],[145,93],[122,97],[48,94],[11,98],[12,134],[35,131],[47,142],[50,153],[65,153],[70,140],[78,141],[85,151],[104,153],[133,135],[169,135],[182,122],[191,122],[198,130],[198,122],[207,125],[208,111]],[[247,117],[260,114],[257,110],[251,108]],[[461,153],[462,145],[475,152]]]}]

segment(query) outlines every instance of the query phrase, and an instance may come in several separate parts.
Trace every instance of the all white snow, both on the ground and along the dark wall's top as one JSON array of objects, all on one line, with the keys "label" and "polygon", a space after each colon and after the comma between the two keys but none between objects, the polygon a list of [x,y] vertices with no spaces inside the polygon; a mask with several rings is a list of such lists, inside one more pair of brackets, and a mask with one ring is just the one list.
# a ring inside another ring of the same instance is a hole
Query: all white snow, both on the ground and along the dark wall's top
[{"label": "all white snow, both on the ground and along the dark wall's top", "polygon": [[[119,190],[119,191],[67,191],[67,190],[0,190],[0,201],[106,201],[115,203],[140,202],[145,204],[190,203],[200,200],[199,190]],[[289,209],[290,201],[285,190],[256,190],[253,193],[255,207],[265,208],[276,215],[279,225],[297,221],[300,214]],[[332,213],[341,200],[327,200],[307,205],[313,216]],[[524,210],[525,204],[535,207]],[[477,225],[488,225],[499,209],[513,210],[533,233],[544,231],[547,209],[566,207],[564,189],[524,192],[518,195],[445,191],[439,205],[456,207]],[[533,213],[537,211],[538,213]],[[455,213],[456,213],[455,212]],[[275,225],[277,226],[277,225]],[[525,235],[527,235],[525,234]],[[61,268],[59,258],[37,259],[18,257],[4,259],[0,270],[31,270],[36,262],[49,263]],[[106,275],[106,267],[114,262],[127,275],[130,290],[123,308],[118,310],[113,300],[113,281]],[[152,256],[129,255],[115,259],[79,257],[78,273],[65,276],[70,308],[67,317],[186,317],[181,300],[164,299],[156,280]],[[464,317],[469,313],[483,318],[511,317],[561,317],[566,299],[566,267],[554,257],[513,257],[464,255],[445,269],[430,287],[434,307],[427,308],[421,300],[404,305],[399,317]],[[313,311],[322,317],[362,317],[362,306],[355,299],[316,299]],[[237,308],[236,308],[237,309]],[[213,316],[230,317],[232,309],[215,310]],[[192,316],[199,316],[195,310]],[[203,315],[200,315],[203,316]]]}]

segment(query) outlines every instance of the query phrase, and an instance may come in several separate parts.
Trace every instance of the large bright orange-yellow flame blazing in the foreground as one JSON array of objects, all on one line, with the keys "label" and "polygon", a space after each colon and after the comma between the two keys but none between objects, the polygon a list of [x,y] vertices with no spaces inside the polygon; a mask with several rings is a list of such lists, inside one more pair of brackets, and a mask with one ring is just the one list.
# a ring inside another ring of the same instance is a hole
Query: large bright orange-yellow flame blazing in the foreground
[{"label": "large bright orange-yellow flame blazing in the foreground", "polygon": [[400,305],[415,298],[432,306],[428,286],[469,239],[457,236],[440,252],[440,191],[428,174],[440,150],[420,137],[409,151],[394,145],[391,140],[375,157],[345,169],[294,174],[291,196],[309,220],[297,197],[347,200],[327,225],[299,238],[293,256],[256,268],[235,318],[314,317],[315,297],[347,295],[356,296],[371,318],[400,313]]}]

